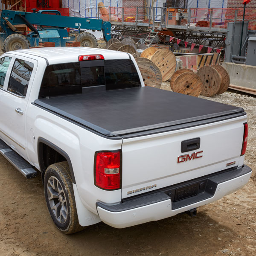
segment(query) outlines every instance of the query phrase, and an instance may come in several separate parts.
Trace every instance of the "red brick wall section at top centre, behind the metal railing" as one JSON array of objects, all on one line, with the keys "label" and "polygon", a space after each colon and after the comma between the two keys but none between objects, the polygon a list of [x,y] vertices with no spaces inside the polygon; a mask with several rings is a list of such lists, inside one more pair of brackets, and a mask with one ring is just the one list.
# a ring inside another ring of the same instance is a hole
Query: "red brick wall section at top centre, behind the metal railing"
[{"label": "red brick wall section at top centre, behind the metal railing", "polygon": [[[145,8],[140,8],[145,6],[145,0],[123,0],[122,6],[124,7],[124,20],[131,21],[136,19],[136,12],[138,8],[138,20],[144,20]],[[131,18],[134,17],[134,18]]]}]

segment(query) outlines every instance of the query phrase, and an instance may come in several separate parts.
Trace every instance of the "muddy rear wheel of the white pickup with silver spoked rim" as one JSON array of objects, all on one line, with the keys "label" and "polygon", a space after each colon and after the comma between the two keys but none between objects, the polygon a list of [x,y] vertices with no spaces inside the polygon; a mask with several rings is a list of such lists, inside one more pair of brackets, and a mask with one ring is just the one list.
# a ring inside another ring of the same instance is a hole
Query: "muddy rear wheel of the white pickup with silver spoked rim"
[{"label": "muddy rear wheel of the white pickup with silver spoked rim", "polygon": [[[47,168],[44,175],[44,195],[52,220],[59,230],[64,234],[72,234],[84,229],[79,225],[67,161],[54,163]],[[54,198],[50,199],[51,197]]]}]

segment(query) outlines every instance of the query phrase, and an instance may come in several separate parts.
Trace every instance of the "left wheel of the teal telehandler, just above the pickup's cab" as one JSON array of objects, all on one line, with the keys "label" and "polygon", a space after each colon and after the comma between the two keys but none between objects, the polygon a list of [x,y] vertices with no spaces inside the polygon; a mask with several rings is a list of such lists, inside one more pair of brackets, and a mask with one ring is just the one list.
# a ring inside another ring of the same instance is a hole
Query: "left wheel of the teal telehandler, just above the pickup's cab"
[{"label": "left wheel of the teal telehandler, just above the pickup's cab", "polygon": [[3,43],[3,51],[15,51],[19,49],[28,49],[29,41],[24,35],[12,34],[9,35]]}]

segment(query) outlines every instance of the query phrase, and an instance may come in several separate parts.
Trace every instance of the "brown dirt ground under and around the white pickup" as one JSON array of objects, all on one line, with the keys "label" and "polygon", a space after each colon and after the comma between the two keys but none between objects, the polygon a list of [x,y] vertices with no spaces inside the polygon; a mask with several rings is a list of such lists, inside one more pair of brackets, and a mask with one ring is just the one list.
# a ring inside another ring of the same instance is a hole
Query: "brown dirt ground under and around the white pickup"
[{"label": "brown dirt ground under and around the white pickup", "polygon": [[256,255],[256,97],[227,91],[207,99],[247,112],[245,163],[253,175],[244,188],[199,207],[193,218],[183,214],[121,230],[99,223],[67,236],[50,218],[40,176],[25,179],[0,156],[0,256]]}]

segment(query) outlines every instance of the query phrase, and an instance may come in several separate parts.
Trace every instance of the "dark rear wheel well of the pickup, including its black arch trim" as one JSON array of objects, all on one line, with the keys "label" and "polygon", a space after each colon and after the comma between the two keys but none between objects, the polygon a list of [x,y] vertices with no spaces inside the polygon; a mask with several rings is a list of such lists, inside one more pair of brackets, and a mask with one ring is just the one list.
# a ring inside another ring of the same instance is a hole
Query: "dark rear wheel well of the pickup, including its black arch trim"
[{"label": "dark rear wheel well of the pickup, including its black arch trim", "polygon": [[58,148],[54,144],[50,143],[47,140],[40,138],[38,140],[38,162],[41,170],[42,182],[44,183],[44,174],[48,166],[53,163],[59,163],[67,161],[70,167],[70,174],[72,177],[72,182],[76,184],[75,176],[73,173],[73,167],[68,155]]}]

